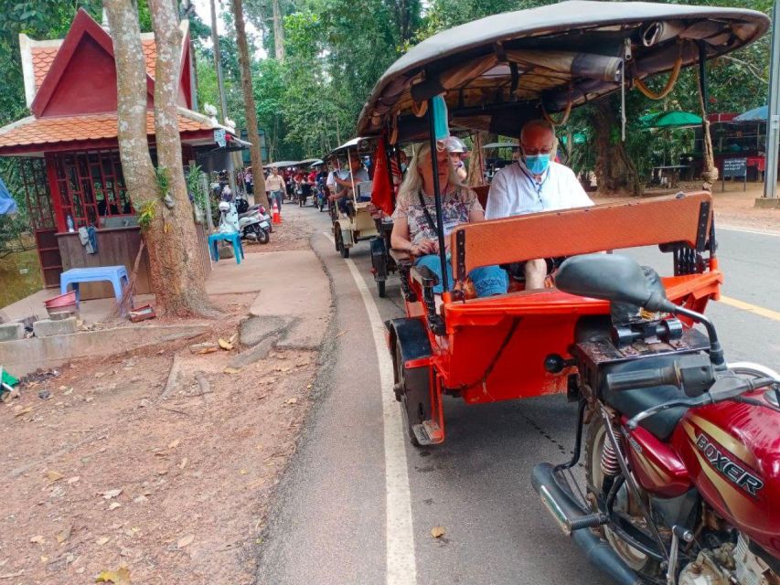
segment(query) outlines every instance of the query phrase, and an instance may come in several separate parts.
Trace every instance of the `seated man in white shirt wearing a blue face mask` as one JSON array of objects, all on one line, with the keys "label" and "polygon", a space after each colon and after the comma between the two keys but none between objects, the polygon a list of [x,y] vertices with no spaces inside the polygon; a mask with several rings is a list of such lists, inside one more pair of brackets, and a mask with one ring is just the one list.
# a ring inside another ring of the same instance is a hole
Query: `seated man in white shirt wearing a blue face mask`
[{"label": "seated man in white shirt wearing a blue face mask", "polygon": [[[552,160],[555,146],[549,122],[532,120],[523,126],[518,162],[499,170],[490,184],[486,219],[593,205],[572,169]],[[525,276],[526,290],[544,288],[547,261],[527,261]]]}]

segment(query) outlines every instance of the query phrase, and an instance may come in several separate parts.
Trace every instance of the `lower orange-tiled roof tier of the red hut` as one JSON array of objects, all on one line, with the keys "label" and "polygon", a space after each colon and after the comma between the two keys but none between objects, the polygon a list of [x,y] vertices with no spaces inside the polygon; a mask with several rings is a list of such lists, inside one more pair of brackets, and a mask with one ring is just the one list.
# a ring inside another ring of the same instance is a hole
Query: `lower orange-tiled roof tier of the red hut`
[{"label": "lower orange-tiled roof tier of the red hut", "polygon": [[[179,108],[179,133],[198,133],[219,128],[206,116]],[[29,116],[0,128],[0,154],[27,152],[31,148],[61,143],[115,140],[117,137],[116,113],[36,118]],[[155,116],[146,113],[146,133],[155,134]],[[87,146],[87,145],[85,145]]]}]

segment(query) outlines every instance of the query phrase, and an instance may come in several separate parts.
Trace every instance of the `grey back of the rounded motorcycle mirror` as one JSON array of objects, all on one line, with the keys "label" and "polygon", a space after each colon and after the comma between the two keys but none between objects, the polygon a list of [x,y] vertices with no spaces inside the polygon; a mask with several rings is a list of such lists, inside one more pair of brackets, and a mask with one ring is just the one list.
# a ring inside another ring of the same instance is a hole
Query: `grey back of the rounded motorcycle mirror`
[{"label": "grey back of the rounded motorcycle mirror", "polygon": [[573,256],[561,264],[555,285],[564,293],[632,303],[649,311],[675,309],[663,292],[649,286],[636,261],[619,254]]}]

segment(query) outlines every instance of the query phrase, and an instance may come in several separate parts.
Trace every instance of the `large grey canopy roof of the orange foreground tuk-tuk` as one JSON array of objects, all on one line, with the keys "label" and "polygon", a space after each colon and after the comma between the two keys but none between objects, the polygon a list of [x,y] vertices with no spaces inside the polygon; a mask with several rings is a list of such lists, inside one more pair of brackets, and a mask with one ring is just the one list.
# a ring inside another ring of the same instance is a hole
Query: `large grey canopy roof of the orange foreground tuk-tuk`
[{"label": "large grey canopy roof of the orange foreground tuk-tuk", "polygon": [[618,90],[624,75],[644,80],[678,59],[692,65],[700,45],[718,57],[768,27],[754,10],[646,2],[572,0],[487,16],[425,39],[393,63],[371,91],[358,133],[379,133],[443,94],[452,126],[511,135],[540,116],[540,103],[561,112]]}]

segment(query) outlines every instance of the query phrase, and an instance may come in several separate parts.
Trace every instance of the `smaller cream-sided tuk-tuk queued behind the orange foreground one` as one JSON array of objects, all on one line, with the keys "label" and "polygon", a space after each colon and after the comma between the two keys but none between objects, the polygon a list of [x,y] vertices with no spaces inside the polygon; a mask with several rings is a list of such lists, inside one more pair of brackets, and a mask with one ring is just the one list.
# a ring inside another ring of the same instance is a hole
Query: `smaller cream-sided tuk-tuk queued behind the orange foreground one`
[{"label": "smaller cream-sided tuk-tuk queued behind the orange foreground one", "polygon": [[[352,176],[351,173],[347,175],[350,158],[370,154],[373,144],[375,141],[370,138],[353,138],[327,154],[326,159],[334,162],[344,159],[347,162],[347,171],[343,175],[347,178]],[[342,258],[349,258],[349,250],[358,241],[378,236],[379,232],[371,215],[371,209],[371,182],[356,182],[354,178],[347,197],[337,200],[330,206],[333,239],[336,243],[336,251]]]}]

